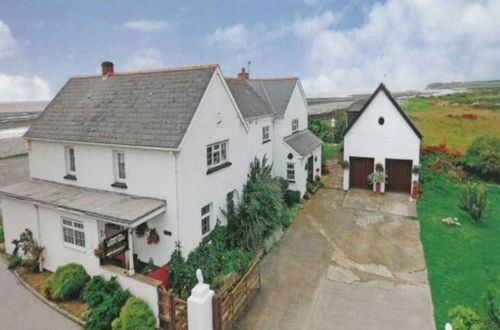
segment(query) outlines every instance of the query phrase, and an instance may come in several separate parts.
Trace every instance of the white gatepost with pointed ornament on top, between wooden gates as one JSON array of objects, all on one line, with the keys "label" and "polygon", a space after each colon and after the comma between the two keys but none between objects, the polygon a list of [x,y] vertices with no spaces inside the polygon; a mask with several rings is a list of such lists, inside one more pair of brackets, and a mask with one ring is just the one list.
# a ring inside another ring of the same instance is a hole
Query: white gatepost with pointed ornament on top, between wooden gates
[{"label": "white gatepost with pointed ornament on top, between wooden gates", "polygon": [[191,290],[188,298],[188,329],[212,330],[212,297],[214,292],[203,283],[201,270],[196,271],[198,284]]}]

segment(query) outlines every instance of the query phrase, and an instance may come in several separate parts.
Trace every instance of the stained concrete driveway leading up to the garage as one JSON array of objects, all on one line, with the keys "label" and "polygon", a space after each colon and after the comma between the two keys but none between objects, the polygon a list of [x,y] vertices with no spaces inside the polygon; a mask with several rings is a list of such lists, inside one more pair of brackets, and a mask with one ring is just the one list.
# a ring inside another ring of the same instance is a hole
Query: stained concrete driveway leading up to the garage
[{"label": "stained concrete driveway leading up to the garage", "polygon": [[435,329],[409,196],[321,189],[262,261],[240,329]]}]

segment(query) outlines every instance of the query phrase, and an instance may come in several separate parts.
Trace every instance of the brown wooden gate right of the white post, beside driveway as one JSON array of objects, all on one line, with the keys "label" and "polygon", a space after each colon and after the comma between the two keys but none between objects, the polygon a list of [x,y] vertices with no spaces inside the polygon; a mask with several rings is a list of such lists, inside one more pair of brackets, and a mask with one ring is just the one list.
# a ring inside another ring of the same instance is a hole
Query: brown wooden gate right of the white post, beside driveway
[{"label": "brown wooden gate right of the white post, beside driveway", "polygon": [[260,258],[252,262],[236,286],[227,293],[213,298],[213,328],[227,330],[236,321],[246,302],[260,289]]}]

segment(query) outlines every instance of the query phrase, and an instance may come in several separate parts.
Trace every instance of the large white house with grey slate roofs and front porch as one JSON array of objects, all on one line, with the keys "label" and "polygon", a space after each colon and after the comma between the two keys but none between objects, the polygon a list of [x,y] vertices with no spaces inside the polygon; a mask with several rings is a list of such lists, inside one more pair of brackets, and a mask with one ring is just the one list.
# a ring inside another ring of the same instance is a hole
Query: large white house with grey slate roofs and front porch
[{"label": "large white house with grey slate roofs and front porch", "polygon": [[133,260],[166,264],[176,242],[189,253],[226,222],[254,157],[301,194],[321,175],[299,79],[226,79],[218,65],[118,73],[104,62],[70,78],[25,139],[31,179],[0,189],[6,250],[29,228],[51,271],[108,272],[95,256],[104,242],[129,275]]}]

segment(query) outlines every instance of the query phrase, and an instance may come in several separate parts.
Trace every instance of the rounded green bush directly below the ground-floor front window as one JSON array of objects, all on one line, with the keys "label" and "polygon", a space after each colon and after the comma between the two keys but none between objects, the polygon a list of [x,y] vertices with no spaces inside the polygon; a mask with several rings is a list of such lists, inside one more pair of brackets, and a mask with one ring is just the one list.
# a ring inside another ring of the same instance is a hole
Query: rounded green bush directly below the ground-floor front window
[{"label": "rounded green bush directly below the ground-floor front window", "polygon": [[45,282],[45,293],[50,299],[72,300],[80,296],[90,277],[78,264],[69,263],[58,267]]}]

